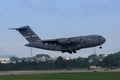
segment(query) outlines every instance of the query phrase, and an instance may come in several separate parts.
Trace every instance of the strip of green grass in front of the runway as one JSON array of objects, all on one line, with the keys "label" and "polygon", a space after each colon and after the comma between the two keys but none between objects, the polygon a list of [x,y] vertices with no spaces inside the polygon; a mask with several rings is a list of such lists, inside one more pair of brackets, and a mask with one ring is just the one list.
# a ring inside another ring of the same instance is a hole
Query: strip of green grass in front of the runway
[{"label": "strip of green grass in front of the runway", "polygon": [[6,75],[0,76],[0,80],[120,80],[120,72]]}]

